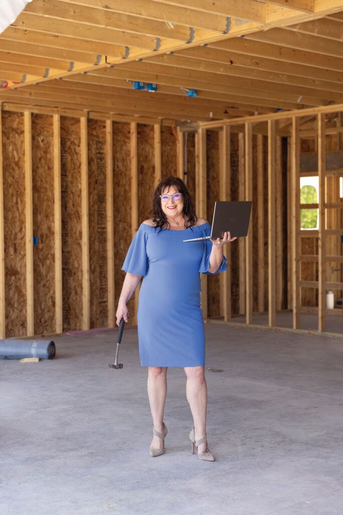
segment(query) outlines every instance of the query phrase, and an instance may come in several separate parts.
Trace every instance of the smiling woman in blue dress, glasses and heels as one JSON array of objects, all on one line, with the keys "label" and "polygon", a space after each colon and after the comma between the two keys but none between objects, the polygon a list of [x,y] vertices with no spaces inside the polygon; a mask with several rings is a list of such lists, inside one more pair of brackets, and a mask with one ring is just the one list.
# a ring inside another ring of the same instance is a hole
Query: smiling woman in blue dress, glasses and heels
[{"label": "smiling woman in blue dress, glasses and heels", "polygon": [[164,454],[167,427],[163,422],[168,367],[184,367],[186,393],[193,415],[189,435],[199,459],[214,461],[207,447],[205,337],[200,308],[200,272],[227,270],[222,239],[184,242],[208,236],[211,227],[198,218],[185,183],[168,177],[156,187],[153,218],[143,221],[128,250],[122,270],[117,324],[128,321],[127,302],[144,276],[139,293],[138,339],[141,365],[148,367],[148,396],[153,418],[151,456]]}]

